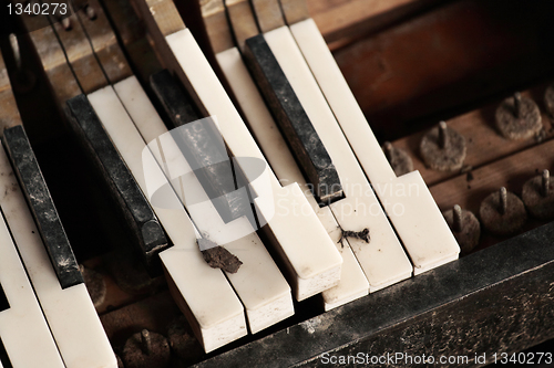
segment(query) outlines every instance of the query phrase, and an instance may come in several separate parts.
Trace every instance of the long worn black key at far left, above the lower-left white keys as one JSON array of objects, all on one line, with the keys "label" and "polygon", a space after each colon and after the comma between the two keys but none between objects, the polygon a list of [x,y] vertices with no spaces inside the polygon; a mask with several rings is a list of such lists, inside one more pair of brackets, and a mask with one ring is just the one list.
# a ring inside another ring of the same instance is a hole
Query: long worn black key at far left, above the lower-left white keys
[{"label": "long worn black key at far left, above the lower-left white keys", "polygon": [[6,129],[2,141],[29,202],[60,285],[65,288],[82,283],[83,276],[79,271],[73,250],[23,126],[18,125]]}]

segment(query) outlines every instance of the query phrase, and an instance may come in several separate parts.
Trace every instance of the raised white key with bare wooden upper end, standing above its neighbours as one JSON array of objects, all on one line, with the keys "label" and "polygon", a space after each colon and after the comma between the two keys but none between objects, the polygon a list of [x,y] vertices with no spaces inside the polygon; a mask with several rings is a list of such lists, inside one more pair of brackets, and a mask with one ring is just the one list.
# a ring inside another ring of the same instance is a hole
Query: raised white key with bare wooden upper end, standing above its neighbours
[{"label": "raised white key with bare wooden upper end, standing above its neighbours", "polygon": [[[156,51],[185,85],[205,116],[223,123],[218,128],[234,157],[265,158],[233,106],[198,44],[178,17],[172,1],[135,1],[144,17]],[[172,19],[172,27],[165,20]],[[243,170],[258,198],[254,199],[258,219],[270,220],[260,230],[271,239],[281,271],[298,301],[312,296],[339,282],[342,259],[318,221],[298,185],[281,187],[267,167],[271,187],[256,182],[256,175]],[[271,194],[273,193],[273,194]],[[277,200],[283,204],[275,211]],[[300,210],[304,209],[304,213]],[[286,212],[287,213],[283,213]]]}]

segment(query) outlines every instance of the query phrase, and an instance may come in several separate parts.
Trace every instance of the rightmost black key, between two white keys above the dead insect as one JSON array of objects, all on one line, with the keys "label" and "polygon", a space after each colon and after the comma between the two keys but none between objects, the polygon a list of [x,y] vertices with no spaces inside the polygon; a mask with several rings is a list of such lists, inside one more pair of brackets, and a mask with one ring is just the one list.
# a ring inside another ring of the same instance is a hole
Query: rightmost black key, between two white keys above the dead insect
[{"label": "rightmost black key, between two white keys above the dead insect", "polygon": [[324,203],[342,198],[335,165],[263,34],[246,40],[245,56],[314,194]]}]

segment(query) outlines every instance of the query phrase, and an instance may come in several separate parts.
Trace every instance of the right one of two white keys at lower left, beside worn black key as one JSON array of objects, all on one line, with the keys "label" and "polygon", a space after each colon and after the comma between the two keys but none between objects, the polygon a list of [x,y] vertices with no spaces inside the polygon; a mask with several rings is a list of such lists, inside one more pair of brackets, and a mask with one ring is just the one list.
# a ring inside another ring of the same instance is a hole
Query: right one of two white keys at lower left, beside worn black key
[{"label": "right one of two white keys at lower left, beside worn black key", "polygon": [[8,193],[0,199],[0,206],[65,366],[116,368],[115,355],[84,283],[61,288],[3,148],[0,177],[0,191]]}]

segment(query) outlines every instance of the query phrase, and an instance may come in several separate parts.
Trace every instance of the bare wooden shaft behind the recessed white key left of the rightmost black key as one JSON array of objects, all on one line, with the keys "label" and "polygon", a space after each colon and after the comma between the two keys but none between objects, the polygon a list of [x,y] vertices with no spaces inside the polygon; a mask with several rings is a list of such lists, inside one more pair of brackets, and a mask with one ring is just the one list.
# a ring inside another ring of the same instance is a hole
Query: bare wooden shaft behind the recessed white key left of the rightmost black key
[{"label": "bare wooden shaft behind the recessed white key left of the rightmost black key", "polygon": [[202,19],[215,54],[235,46],[224,0],[201,0]]}]

